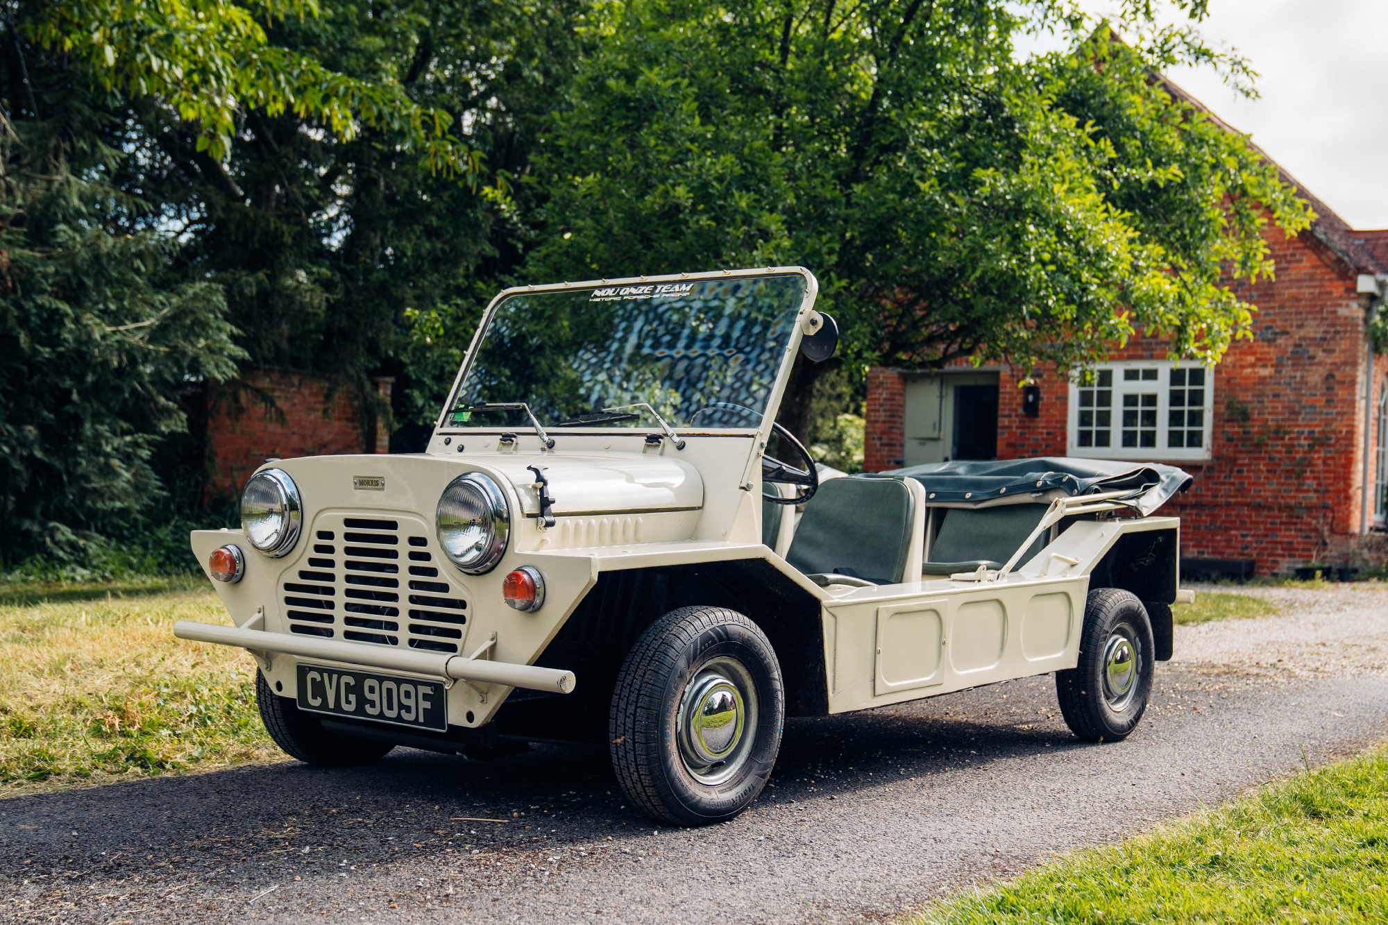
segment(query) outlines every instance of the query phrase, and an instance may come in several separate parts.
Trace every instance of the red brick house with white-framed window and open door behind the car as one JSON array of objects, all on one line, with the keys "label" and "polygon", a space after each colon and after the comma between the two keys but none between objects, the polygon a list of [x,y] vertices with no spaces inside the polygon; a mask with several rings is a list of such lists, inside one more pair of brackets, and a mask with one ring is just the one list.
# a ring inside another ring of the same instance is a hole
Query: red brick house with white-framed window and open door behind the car
[{"label": "red brick house with white-framed window and open door behind the car", "polygon": [[1027,408],[1020,371],[1005,365],[874,367],[865,468],[1031,456],[1171,462],[1195,476],[1163,508],[1181,517],[1191,560],[1227,560],[1220,571],[1253,562],[1263,575],[1382,564],[1388,356],[1373,354],[1369,324],[1388,282],[1388,231],[1351,229],[1284,178],[1317,218],[1292,239],[1267,233],[1276,279],[1235,290],[1259,308],[1253,339],[1219,364],[1176,364],[1163,340],[1138,338],[1091,382],[1041,375],[1040,403]]}]

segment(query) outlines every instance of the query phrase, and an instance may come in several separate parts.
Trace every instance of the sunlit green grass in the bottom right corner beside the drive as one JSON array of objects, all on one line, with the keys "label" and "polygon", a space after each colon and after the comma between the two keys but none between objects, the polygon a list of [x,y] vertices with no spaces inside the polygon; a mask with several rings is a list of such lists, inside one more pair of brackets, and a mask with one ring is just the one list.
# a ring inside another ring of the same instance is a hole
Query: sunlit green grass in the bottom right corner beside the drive
[{"label": "sunlit green grass in the bottom right corner beside the drive", "polygon": [[911,925],[1388,921],[1388,749],[1081,851]]}]

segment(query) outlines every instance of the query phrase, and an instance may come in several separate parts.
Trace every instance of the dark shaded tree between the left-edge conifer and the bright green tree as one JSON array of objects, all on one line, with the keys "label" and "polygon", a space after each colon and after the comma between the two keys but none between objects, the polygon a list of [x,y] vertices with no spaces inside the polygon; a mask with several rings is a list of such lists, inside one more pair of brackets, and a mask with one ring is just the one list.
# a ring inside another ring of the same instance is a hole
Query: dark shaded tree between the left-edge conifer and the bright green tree
[{"label": "dark shaded tree between the left-edge conifer and the bright green tree", "polygon": [[472,151],[471,175],[439,169],[387,128],[341,136],[312,111],[269,106],[239,117],[222,175],[201,168],[200,133],[136,114],[129,185],[174,217],[187,278],[223,286],[250,365],[332,376],[373,410],[368,376],[394,375],[396,419],[434,418],[457,362],[426,331],[458,315],[466,326],[526,246],[529,188],[515,179],[568,79],[579,10],[343,3],[268,29],[278,47],[446,114]]}]

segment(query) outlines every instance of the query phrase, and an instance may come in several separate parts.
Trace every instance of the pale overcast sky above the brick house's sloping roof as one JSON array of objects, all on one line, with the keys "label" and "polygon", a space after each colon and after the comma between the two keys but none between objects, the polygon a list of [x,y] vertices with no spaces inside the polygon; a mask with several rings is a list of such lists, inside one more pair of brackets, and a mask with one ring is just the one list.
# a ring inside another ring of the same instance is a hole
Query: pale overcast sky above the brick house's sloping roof
[{"label": "pale overcast sky above the brick house's sloping roof", "polygon": [[[1085,0],[1094,12],[1112,7]],[[1181,88],[1253,136],[1353,228],[1388,228],[1385,0],[1210,0],[1201,31],[1259,72],[1248,100],[1208,71],[1173,71]]]}]

